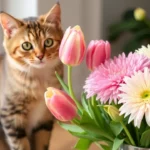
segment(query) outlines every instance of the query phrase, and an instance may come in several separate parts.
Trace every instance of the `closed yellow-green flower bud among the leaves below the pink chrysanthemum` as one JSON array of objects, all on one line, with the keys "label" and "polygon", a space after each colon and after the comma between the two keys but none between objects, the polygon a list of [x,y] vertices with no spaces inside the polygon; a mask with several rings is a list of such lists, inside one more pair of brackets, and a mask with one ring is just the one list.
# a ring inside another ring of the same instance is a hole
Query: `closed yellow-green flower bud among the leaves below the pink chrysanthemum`
[{"label": "closed yellow-green flower bud among the leaves below the pink chrysanthemum", "polygon": [[120,116],[118,108],[112,105],[105,105],[104,110],[109,114],[110,118],[115,122],[120,122],[123,120],[123,116]]}]

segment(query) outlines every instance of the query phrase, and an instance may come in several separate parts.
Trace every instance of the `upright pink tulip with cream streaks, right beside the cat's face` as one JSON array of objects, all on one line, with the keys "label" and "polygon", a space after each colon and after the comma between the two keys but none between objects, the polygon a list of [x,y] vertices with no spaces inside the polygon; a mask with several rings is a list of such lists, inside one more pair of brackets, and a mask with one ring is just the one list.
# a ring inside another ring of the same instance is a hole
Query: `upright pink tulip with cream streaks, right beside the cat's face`
[{"label": "upright pink tulip with cream streaks, right beside the cat's face", "polygon": [[85,41],[80,26],[69,27],[60,45],[60,60],[66,65],[77,66],[83,61],[84,53]]}]

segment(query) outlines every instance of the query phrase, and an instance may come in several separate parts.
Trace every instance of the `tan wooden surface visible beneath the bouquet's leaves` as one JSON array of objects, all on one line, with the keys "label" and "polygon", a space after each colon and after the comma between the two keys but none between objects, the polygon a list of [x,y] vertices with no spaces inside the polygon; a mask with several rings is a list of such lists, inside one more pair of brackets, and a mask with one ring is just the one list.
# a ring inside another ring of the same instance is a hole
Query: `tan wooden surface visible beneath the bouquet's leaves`
[{"label": "tan wooden surface visible beneath the bouquet's leaves", "polygon": [[[50,142],[50,150],[75,150],[73,147],[77,138],[72,136],[69,132],[62,129],[58,124],[55,124]],[[89,150],[100,150],[94,144]]]}]

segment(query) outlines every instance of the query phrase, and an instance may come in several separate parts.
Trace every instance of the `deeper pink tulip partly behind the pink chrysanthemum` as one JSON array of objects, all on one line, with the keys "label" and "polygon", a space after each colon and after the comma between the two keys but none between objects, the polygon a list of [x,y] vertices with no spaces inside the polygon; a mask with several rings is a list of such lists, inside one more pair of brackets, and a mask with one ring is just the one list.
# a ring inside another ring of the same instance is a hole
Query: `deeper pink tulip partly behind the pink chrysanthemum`
[{"label": "deeper pink tulip partly behind the pink chrysanthemum", "polygon": [[111,47],[109,42],[103,40],[92,40],[87,48],[86,64],[87,67],[93,71],[106,59],[110,58]]}]

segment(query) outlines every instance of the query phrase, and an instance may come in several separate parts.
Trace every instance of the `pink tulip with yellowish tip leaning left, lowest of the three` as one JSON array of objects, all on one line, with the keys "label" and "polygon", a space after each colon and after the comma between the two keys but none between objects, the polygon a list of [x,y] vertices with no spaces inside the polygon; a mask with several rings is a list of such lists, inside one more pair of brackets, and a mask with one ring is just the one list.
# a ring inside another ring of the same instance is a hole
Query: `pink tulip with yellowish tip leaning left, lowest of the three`
[{"label": "pink tulip with yellowish tip leaning left, lowest of the three", "polygon": [[65,92],[49,87],[44,96],[48,109],[58,120],[70,121],[77,115],[76,104]]}]

